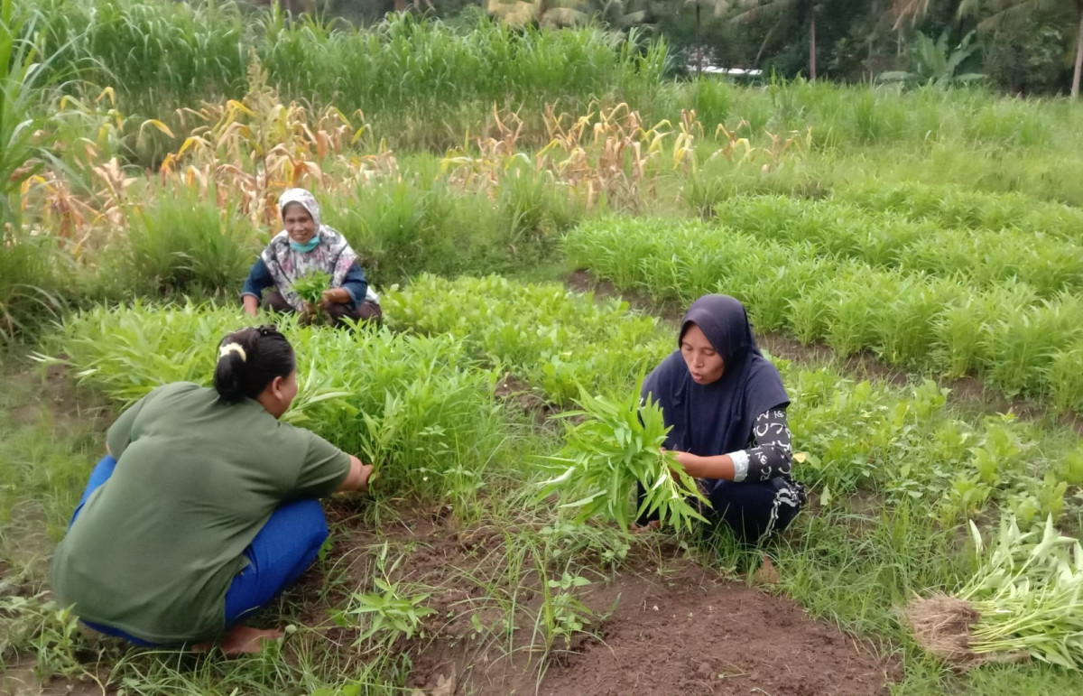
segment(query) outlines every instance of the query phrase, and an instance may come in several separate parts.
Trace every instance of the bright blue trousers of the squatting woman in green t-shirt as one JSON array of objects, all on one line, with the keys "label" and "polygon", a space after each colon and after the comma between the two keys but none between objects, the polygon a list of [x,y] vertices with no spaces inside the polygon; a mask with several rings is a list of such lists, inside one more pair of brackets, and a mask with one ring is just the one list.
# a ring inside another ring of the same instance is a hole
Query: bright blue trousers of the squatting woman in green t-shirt
[{"label": "bright blue trousers of the squatting woman in green t-shirt", "polygon": [[[82,512],[87,499],[109,480],[116,466],[117,460],[107,454],[91,472],[87,490],[82,492],[71,521],[68,523],[69,529]],[[230,627],[240,622],[296,582],[315,560],[326,539],[327,519],[319,501],[311,498],[297,500],[274,511],[252,539],[252,543],[245,549],[248,565],[233,578],[225,593],[225,624]],[[126,639],[136,645],[154,645],[108,626],[89,621],[84,623],[95,631]]]}]

